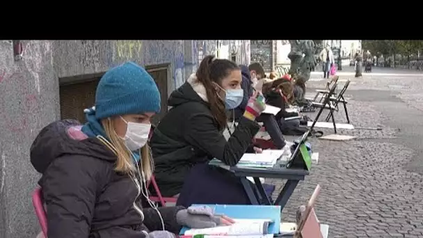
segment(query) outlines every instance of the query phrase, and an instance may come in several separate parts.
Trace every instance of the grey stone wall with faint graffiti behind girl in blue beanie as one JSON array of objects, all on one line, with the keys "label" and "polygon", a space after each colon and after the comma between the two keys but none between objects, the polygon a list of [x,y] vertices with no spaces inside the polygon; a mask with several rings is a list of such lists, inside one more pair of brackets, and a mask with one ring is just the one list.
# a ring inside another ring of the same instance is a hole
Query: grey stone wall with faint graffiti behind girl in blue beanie
[{"label": "grey stone wall with faint graffiti behind girl in blue beanie", "polygon": [[59,79],[103,73],[125,61],[168,64],[168,93],[196,69],[195,40],[23,41],[14,61],[12,42],[0,42],[0,237],[35,237],[40,231],[31,193],[40,175],[29,148],[42,127],[60,118]]}]

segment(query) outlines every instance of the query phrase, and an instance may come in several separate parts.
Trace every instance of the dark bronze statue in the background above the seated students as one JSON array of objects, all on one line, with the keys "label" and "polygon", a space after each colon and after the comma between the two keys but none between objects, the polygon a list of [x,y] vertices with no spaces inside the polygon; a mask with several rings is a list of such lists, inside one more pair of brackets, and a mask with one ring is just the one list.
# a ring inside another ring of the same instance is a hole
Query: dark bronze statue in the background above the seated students
[{"label": "dark bronze statue in the background above the seated students", "polygon": [[314,58],[316,44],[313,40],[289,40],[289,43],[291,52],[289,52],[288,58],[291,60],[291,68],[288,73],[292,75],[293,79],[302,75],[305,81],[308,81],[310,72],[317,65],[316,58]]}]

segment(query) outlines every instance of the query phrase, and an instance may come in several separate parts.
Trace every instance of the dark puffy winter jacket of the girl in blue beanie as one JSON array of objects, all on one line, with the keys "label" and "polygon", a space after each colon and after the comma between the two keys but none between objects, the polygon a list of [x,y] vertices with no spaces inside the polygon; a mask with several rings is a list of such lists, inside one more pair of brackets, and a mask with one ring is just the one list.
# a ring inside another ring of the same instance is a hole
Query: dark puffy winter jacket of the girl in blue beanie
[{"label": "dark puffy winter jacket of the girl in blue beanie", "polygon": [[[142,209],[134,181],[113,170],[115,154],[80,129],[75,120],[53,122],[31,146],[31,163],[42,173],[38,183],[47,205],[47,237],[142,238],[161,230],[157,212]],[[166,230],[179,232],[179,209],[159,208]]]}]

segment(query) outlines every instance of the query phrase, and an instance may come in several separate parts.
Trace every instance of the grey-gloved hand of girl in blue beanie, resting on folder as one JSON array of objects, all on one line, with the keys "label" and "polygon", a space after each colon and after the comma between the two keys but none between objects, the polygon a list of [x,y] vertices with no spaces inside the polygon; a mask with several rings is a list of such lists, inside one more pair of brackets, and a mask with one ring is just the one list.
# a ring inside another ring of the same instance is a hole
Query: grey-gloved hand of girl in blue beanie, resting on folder
[{"label": "grey-gloved hand of girl in blue beanie, resting on folder", "polygon": [[[228,224],[222,215],[214,214],[214,209],[207,206],[188,207],[177,212],[176,221],[179,225],[189,228],[214,228],[221,223]],[[232,222],[233,223],[233,222]]]}]

